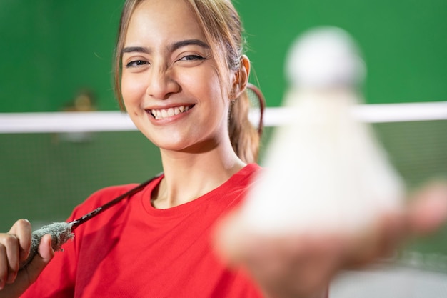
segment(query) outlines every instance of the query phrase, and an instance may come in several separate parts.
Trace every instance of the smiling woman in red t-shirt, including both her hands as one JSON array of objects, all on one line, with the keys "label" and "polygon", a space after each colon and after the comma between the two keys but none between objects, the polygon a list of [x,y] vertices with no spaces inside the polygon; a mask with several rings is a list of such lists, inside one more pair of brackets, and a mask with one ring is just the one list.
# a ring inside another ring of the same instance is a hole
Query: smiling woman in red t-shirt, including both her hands
[{"label": "smiling woman in red t-shirt, including both her hands", "polygon": [[[259,170],[259,140],[244,108],[250,62],[242,41],[228,0],[126,1],[117,95],[159,146],[164,175],[78,227],[64,252],[54,254],[46,235],[20,272],[31,227],[16,222],[0,234],[0,297],[324,297],[337,270],[381,256],[408,229],[426,232],[443,222],[445,212],[423,220],[445,207],[433,200],[407,214],[384,214],[383,225],[366,235],[367,249],[359,246],[363,238],[347,235],[273,242],[238,232],[236,207]],[[101,189],[69,220],[131,187]],[[230,212],[216,237],[219,258],[212,235]]]}]

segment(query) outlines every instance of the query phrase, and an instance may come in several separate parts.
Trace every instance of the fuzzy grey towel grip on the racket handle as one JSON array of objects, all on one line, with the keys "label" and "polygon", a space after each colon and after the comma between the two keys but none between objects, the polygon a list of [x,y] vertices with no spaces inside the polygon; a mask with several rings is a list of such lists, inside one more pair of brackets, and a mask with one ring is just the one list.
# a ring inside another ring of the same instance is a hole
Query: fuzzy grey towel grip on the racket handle
[{"label": "fuzzy grey towel grip on the racket handle", "polygon": [[29,255],[24,262],[21,262],[20,269],[25,269],[29,263],[36,257],[36,254],[39,253],[39,244],[41,242],[42,237],[46,234],[51,235],[51,247],[56,252],[58,250],[62,250],[62,244],[69,241],[74,237],[74,234],[71,232],[71,223],[67,222],[54,222],[53,224],[46,225],[34,231],[31,234],[31,249],[29,250]]}]

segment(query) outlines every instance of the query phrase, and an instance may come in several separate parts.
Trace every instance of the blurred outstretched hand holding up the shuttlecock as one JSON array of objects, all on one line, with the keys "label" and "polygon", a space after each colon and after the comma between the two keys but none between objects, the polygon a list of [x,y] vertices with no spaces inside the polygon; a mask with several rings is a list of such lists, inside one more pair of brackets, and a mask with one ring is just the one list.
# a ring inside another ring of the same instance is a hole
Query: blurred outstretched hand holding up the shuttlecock
[{"label": "blurred outstretched hand holding up the shuttlecock", "polygon": [[244,229],[230,214],[216,231],[216,249],[229,266],[243,266],[267,297],[325,297],[343,269],[360,269],[388,257],[408,237],[428,234],[447,219],[447,185],[426,187],[399,213],[381,214],[358,234],[303,232],[281,236]]}]

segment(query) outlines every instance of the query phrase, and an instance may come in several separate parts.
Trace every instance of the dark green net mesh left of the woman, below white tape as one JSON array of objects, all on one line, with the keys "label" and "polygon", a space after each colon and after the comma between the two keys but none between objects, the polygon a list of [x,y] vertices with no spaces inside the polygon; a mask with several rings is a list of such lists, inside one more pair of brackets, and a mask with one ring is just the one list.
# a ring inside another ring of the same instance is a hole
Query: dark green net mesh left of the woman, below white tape
[{"label": "dark green net mesh left of the woman, below white tape", "polygon": [[92,192],[161,172],[159,149],[139,131],[0,134],[0,227],[66,219]]}]

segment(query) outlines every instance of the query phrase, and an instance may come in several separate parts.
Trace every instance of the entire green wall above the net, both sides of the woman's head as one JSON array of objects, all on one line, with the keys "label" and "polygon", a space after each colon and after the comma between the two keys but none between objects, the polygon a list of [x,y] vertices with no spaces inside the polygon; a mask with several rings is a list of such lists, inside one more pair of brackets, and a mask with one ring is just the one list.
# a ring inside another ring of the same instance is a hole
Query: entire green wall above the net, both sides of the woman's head
[{"label": "entire green wall above the net, both sides of the woman's head", "polygon": [[[82,88],[117,109],[111,59],[122,0],[1,0],[0,112],[58,111]],[[291,41],[313,26],[341,26],[368,66],[368,103],[443,101],[447,94],[445,0],[239,0],[248,55],[278,106]]]}]

